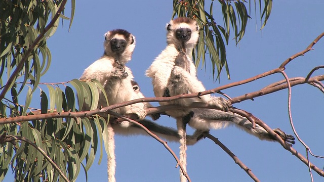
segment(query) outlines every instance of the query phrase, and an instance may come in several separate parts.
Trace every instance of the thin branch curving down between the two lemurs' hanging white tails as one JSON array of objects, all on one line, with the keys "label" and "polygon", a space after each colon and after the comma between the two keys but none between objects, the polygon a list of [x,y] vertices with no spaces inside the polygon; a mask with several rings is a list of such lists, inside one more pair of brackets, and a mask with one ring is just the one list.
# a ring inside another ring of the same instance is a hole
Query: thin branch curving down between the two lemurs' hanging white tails
[{"label": "thin branch curving down between the two lemurs' hanging white tails", "polygon": [[173,152],[173,150],[168,146],[168,144],[167,144],[167,142],[165,142],[164,140],[162,140],[162,139],[160,139],[156,134],[154,134],[154,133],[152,133],[150,130],[148,130],[145,126],[143,126],[141,123],[139,123],[139,122],[137,122],[137,121],[135,121],[135,120],[133,120],[133,119],[130,119],[130,118],[128,118],[128,117],[125,117],[125,116],[123,116],[123,115],[121,115],[121,114],[118,114],[118,113],[115,113],[115,112],[112,112],[112,111],[108,111],[108,114],[110,114],[110,115],[113,115],[113,116],[116,116],[116,117],[119,117],[119,118],[121,118],[121,119],[124,119],[124,120],[126,120],[126,121],[129,121],[129,122],[131,122],[131,123],[133,123],[133,124],[136,124],[136,125],[138,125],[139,127],[141,127],[142,129],[144,129],[145,130],[145,132],[147,132],[150,136],[152,136],[155,140],[157,140],[159,143],[161,143],[170,153],[171,153],[171,155],[174,157],[174,159],[177,161],[177,165],[179,165],[179,167],[180,167],[180,169],[182,170],[182,173],[183,173],[183,175],[187,178],[187,180],[189,181],[189,182],[191,182],[191,179],[190,179],[190,177],[189,177],[189,175],[187,174],[187,172],[184,170],[184,168],[183,168],[183,166],[182,166],[182,164],[180,163],[180,161],[179,161],[179,159],[178,159],[178,157],[177,157],[177,155]]}]

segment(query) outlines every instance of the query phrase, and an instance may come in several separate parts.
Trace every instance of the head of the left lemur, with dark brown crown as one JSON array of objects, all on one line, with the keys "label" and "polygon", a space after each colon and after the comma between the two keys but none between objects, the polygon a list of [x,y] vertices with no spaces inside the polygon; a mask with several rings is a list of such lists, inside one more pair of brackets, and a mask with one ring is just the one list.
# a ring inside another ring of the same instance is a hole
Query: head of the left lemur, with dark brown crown
[{"label": "head of the left lemur, with dark brown crown", "polygon": [[126,63],[131,60],[135,49],[135,36],[127,30],[115,29],[105,33],[105,55]]}]

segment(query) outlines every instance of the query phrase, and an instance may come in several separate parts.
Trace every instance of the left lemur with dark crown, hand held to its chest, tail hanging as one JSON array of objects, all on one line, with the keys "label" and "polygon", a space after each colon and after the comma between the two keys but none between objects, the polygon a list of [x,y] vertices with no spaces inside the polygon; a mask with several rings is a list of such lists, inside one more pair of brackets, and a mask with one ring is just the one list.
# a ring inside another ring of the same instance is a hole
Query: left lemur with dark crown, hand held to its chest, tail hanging
[{"label": "left lemur with dark crown, hand held to its chest, tail hanging", "polygon": [[[135,36],[126,30],[115,29],[108,31],[105,35],[104,55],[88,68],[85,69],[80,80],[97,79],[104,87],[109,105],[123,103],[134,99],[144,98],[139,90],[133,89],[133,74],[130,68],[125,64],[132,58],[135,49]],[[107,106],[102,91],[99,91],[99,107]],[[137,103],[130,106],[114,109],[112,111],[122,115],[134,116],[141,124],[150,129],[155,134],[169,140],[178,141],[179,135],[176,130],[159,126],[149,120],[145,120],[147,107],[151,107],[149,103]],[[90,106],[84,104],[82,110],[87,111]],[[106,114],[102,116],[107,116]],[[152,119],[158,119],[159,115],[153,115]],[[145,131],[128,121],[110,122],[108,124],[108,181],[115,181],[115,154],[114,154],[114,132],[122,135],[146,134]],[[200,138],[201,132],[197,131],[194,135],[187,137],[187,144],[193,145]]]}]

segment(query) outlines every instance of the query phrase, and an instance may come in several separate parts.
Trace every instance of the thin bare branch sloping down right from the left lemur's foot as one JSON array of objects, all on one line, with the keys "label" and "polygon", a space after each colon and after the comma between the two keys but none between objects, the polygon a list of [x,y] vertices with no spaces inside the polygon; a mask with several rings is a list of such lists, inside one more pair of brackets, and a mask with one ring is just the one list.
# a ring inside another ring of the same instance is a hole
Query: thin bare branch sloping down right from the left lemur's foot
[{"label": "thin bare branch sloping down right from the left lemur's foot", "polygon": [[210,133],[204,133],[204,136],[209,138],[210,140],[214,141],[216,145],[222,148],[233,160],[234,162],[239,165],[245,172],[254,180],[260,181],[258,177],[252,172],[252,170],[246,166],[241,160],[236,157],[223,143],[221,143],[215,136],[211,135]]}]

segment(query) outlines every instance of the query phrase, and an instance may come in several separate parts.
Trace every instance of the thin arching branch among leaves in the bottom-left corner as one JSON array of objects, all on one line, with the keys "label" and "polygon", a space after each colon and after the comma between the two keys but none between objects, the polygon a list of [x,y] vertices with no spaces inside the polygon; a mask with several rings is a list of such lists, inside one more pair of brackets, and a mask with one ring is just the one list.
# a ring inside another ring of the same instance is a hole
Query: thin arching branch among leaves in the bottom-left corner
[{"label": "thin arching branch among leaves in the bottom-left corner", "polygon": [[13,145],[16,145],[16,140],[24,141],[28,143],[29,145],[33,146],[37,151],[39,151],[51,164],[52,166],[57,170],[57,172],[60,174],[60,176],[64,179],[64,181],[68,182],[68,178],[65,176],[65,174],[61,171],[61,169],[55,164],[55,162],[52,161],[52,159],[43,151],[42,148],[36,146],[33,142],[30,140],[22,137],[22,136],[14,136],[14,135],[2,135],[0,139],[0,143],[3,142],[10,142]]}]

